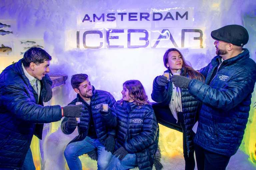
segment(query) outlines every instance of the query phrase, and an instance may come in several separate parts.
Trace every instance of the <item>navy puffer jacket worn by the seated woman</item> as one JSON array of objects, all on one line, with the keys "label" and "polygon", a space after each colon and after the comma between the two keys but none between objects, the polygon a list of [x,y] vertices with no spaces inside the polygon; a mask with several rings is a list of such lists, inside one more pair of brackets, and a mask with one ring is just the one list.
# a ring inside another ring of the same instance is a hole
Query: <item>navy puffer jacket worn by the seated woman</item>
[{"label": "navy puffer jacket worn by the seated woman", "polygon": [[150,105],[141,108],[133,102],[117,101],[111,112],[102,115],[109,127],[117,127],[115,151],[123,146],[128,153],[135,153],[140,170],[153,168],[158,147],[159,128]]}]

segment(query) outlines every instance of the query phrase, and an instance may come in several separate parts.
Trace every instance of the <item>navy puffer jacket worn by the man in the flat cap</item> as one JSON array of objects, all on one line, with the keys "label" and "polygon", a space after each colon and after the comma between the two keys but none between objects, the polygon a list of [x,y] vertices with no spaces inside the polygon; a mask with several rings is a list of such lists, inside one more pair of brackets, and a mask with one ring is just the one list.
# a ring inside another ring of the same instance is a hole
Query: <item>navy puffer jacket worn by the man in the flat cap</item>
[{"label": "navy puffer jacket worn by the man in the flat cap", "polygon": [[249,58],[248,49],[243,50],[222,63],[220,56],[214,57],[200,70],[207,76],[206,84],[193,79],[188,86],[189,93],[203,103],[194,142],[225,156],[234,155],[242,142],[256,81],[256,64]]}]

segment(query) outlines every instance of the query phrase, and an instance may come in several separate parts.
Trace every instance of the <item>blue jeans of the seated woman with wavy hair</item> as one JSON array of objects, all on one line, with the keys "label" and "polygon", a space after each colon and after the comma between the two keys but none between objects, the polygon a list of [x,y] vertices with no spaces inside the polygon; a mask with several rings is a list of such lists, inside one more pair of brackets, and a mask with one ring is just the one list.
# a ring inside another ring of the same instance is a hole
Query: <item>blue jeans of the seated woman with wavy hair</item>
[{"label": "blue jeans of the seated woman with wavy hair", "polygon": [[134,154],[127,154],[125,157],[120,160],[116,155],[112,155],[110,162],[105,170],[127,170],[133,169],[138,166],[138,162],[136,159],[136,155]]}]

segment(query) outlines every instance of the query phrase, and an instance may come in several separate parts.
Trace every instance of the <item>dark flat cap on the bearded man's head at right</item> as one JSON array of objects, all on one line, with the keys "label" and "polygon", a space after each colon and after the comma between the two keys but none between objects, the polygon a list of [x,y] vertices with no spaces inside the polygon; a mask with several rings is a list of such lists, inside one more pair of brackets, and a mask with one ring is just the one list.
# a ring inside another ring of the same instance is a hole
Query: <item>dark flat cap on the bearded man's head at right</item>
[{"label": "dark flat cap on the bearded man's head at right", "polygon": [[214,40],[232,43],[237,46],[245,45],[249,40],[247,30],[240,25],[227,25],[211,33]]}]

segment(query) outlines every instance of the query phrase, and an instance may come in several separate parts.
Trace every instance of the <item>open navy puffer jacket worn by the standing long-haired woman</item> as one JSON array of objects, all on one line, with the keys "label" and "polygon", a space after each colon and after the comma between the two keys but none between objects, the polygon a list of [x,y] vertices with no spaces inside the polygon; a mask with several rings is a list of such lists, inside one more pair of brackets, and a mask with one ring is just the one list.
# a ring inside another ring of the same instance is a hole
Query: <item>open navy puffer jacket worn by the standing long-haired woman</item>
[{"label": "open navy puffer jacket worn by the standing long-haired woman", "polygon": [[[170,70],[166,70],[165,72],[170,73]],[[181,69],[181,75],[184,76],[184,69]],[[186,75],[186,77],[189,77],[188,74]],[[171,110],[169,109],[169,103],[172,98],[172,83],[171,82],[168,83],[167,86],[159,86],[156,83],[157,78],[158,78],[158,76],[153,81],[153,91],[151,94],[152,100],[154,100],[155,102],[158,103],[158,104],[154,104],[154,105],[168,108],[166,110],[168,110],[169,112],[167,112],[166,114],[172,115]],[[199,102],[194,97],[192,97],[192,95],[189,94],[188,89],[182,88],[181,96],[182,96],[181,97],[182,116],[183,116],[184,125],[185,125],[185,129],[186,129],[184,133],[186,133],[188,152],[191,152],[194,150],[192,127],[194,125],[194,120],[195,120],[196,111],[197,111]],[[156,109],[157,108],[158,107],[156,107]],[[156,111],[155,111],[155,113],[156,113]],[[161,125],[164,125],[168,128],[173,128],[175,130],[179,130],[182,132],[181,127],[177,127],[171,123],[168,123],[168,120],[163,120],[163,119],[158,118],[157,114],[156,114],[156,119],[157,119],[158,123],[160,123]]]}]

